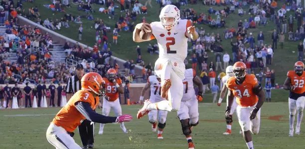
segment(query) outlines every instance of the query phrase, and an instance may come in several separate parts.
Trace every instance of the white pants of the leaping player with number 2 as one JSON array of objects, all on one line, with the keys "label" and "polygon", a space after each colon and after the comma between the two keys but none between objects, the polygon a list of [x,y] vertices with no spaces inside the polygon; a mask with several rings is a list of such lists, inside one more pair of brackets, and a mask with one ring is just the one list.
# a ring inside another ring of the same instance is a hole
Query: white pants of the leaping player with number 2
[{"label": "white pants of the leaping player with number 2", "polygon": [[[161,70],[158,66],[162,66]],[[171,111],[178,111],[180,108],[180,102],[183,96],[183,82],[185,65],[182,62],[168,58],[158,58],[155,62],[155,73],[161,78],[171,79],[171,87],[169,88],[167,95],[169,105],[171,105]],[[163,84],[162,84],[163,85]]]}]

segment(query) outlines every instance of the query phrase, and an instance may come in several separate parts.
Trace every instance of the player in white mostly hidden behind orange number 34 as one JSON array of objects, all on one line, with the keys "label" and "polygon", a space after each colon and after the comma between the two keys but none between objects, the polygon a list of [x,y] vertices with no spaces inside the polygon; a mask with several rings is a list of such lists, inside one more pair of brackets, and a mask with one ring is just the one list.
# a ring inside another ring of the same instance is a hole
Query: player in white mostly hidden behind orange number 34
[{"label": "player in white mostly hidden behind orange number 34", "polygon": [[[227,80],[234,76],[234,73],[233,73],[233,66],[228,66],[226,68],[226,76],[222,77],[221,81],[222,83],[224,84],[222,89],[221,89],[221,92],[220,92],[220,97],[219,97],[219,100],[218,100],[218,103],[217,105],[220,106],[221,105],[221,102],[222,102],[222,99],[224,98],[224,96],[226,95],[226,92],[228,90],[227,88]],[[228,95],[227,95],[227,100],[228,100]],[[228,102],[227,102],[228,104]],[[232,103],[232,107],[231,107],[231,112],[230,112],[230,115],[231,117],[227,117],[226,118],[226,123],[227,123],[227,131],[225,133],[223,133],[223,135],[231,135],[231,128],[232,128],[232,115],[234,114],[235,110],[236,110],[236,107],[237,107],[237,102],[236,102],[236,98],[234,97],[234,101]],[[242,133],[242,132],[240,132]]]}]

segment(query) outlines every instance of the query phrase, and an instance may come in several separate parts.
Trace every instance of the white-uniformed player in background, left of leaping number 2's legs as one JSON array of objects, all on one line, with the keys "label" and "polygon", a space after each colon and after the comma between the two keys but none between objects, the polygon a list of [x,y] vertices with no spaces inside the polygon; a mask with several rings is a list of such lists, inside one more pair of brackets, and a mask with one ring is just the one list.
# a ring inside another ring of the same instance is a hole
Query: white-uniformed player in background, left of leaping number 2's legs
[{"label": "white-uniformed player in background, left of leaping number 2's legs", "polygon": [[[150,89],[150,101],[152,103],[159,102],[165,100],[161,97],[161,78],[156,75],[149,76],[147,83],[142,89],[141,97],[140,97],[140,105],[143,103],[145,92]],[[158,118],[158,139],[163,139],[162,133],[165,128],[167,111],[151,111],[149,113],[149,122],[152,124],[152,131],[156,131],[156,120]]]}]

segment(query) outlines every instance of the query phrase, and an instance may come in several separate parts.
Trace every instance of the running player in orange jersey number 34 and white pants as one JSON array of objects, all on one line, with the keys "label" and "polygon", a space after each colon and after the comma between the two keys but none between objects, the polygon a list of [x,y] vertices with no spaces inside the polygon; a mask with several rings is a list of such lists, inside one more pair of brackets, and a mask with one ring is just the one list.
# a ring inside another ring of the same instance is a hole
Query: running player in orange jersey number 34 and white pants
[{"label": "running player in orange jersey number 34 and white pants", "polygon": [[226,119],[231,119],[230,111],[235,96],[238,103],[236,113],[244,139],[248,148],[254,149],[250,131],[252,134],[259,133],[260,108],[265,101],[265,92],[255,76],[246,74],[246,69],[246,65],[243,62],[236,62],[233,66],[235,76],[230,77],[227,81],[229,92]]}]

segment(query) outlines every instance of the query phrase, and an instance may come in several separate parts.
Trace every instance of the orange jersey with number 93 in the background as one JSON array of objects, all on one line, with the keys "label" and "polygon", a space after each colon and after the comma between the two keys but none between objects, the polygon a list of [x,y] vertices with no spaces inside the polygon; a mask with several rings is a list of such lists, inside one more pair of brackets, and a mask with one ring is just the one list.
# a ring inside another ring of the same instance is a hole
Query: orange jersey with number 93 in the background
[{"label": "orange jersey with number 93 in the background", "polygon": [[[109,81],[108,78],[103,77],[103,80],[105,81],[105,87],[107,89],[106,96],[109,97],[108,101],[115,101],[119,98],[119,91],[116,87],[116,85]],[[122,84],[121,78],[116,78],[117,83],[120,85]]]}]

